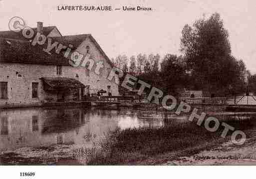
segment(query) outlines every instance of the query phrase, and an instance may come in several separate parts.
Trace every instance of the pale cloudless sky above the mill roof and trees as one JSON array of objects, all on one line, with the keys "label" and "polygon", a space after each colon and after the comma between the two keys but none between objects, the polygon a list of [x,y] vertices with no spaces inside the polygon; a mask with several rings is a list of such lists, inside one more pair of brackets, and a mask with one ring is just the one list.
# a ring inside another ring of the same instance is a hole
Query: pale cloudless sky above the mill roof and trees
[{"label": "pale cloudless sky above the mill roof and trees", "polygon": [[[61,5],[151,7],[152,11],[60,11]],[[218,12],[229,32],[232,55],[256,73],[255,0],[0,0],[0,30],[19,16],[30,27],[55,25],[62,35],[91,33],[109,58],[139,53],[180,55],[185,24]]]}]

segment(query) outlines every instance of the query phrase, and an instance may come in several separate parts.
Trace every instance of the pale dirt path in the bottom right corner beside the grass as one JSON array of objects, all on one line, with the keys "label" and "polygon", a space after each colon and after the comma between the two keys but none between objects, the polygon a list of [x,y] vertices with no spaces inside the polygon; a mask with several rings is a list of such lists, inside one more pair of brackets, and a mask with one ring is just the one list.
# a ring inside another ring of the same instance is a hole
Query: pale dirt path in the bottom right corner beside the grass
[{"label": "pale dirt path in the bottom right corner beside the grass", "polygon": [[247,139],[243,146],[226,142],[220,147],[170,162],[176,165],[256,165],[256,137]]}]

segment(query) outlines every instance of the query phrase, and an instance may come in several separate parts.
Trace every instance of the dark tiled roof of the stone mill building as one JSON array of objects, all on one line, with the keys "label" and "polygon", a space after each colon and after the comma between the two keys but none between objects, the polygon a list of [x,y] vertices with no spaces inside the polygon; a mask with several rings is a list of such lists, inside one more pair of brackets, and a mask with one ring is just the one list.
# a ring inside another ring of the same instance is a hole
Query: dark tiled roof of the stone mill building
[{"label": "dark tiled roof of the stone mill building", "polygon": [[[51,54],[48,54],[44,52],[43,48],[47,47],[47,43],[45,43],[44,45],[32,46],[31,43],[27,41],[27,39],[24,40],[21,39],[21,37],[18,37],[18,33],[13,34],[15,32],[8,32],[9,33],[6,33],[6,37],[0,37],[0,62],[44,65],[70,65],[68,59],[63,56],[63,53],[56,54],[52,52]],[[4,33],[0,32],[0,35],[3,34]],[[22,35],[20,34],[20,36]],[[113,63],[111,62],[111,60],[104,53],[104,51],[101,49],[96,40],[91,36],[91,34],[68,35],[51,38],[53,39],[52,42],[57,41],[66,46],[72,44],[73,50],[75,50],[86,38],[90,38],[97,47],[97,49],[100,51],[102,56],[107,60],[111,67],[113,67]]]}]

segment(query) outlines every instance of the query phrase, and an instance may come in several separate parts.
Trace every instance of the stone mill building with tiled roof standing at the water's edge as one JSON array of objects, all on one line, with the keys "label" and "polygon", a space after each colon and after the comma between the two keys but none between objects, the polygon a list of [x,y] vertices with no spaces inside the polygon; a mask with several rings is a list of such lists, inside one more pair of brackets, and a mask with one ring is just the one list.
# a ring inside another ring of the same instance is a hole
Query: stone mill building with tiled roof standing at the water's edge
[{"label": "stone mill building with tiled roof standing at the water's edge", "polygon": [[42,46],[31,45],[31,41],[21,33],[13,31],[0,32],[0,105],[33,104],[47,101],[78,101],[83,96],[97,94],[106,90],[107,94],[118,95],[118,85],[107,76],[113,64],[91,34],[62,36],[55,26],[43,27],[37,23],[34,32],[41,32],[59,44],[72,45],[83,55],[89,55],[95,61],[103,61],[100,75],[94,73],[94,67],[73,67],[59,54],[43,51]]}]

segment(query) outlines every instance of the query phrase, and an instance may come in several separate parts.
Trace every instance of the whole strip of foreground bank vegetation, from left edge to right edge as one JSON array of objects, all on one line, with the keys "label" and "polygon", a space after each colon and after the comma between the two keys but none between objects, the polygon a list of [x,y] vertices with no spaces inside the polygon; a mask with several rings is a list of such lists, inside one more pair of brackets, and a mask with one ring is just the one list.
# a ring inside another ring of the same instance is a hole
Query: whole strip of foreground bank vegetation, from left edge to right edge
[{"label": "whole strip of foreground bank vegetation, from left edge to right edge", "polygon": [[[224,139],[224,127],[216,132],[205,129],[197,120],[176,120],[163,115],[163,127],[118,129],[105,137],[92,138],[84,146],[72,144],[53,145],[39,148],[21,148],[0,152],[1,165],[160,165],[173,164],[183,157],[192,157],[202,151],[219,150],[226,142],[231,149],[253,145],[256,138],[256,117],[248,115],[216,116],[220,122],[242,130],[247,141],[242,146],[231,143],[230,131]],[[213,125],[210,123],[210,126]],[[93,136],[91,134],[91,136]],[[237,139],[239,140],[239,139]],[[91,145],[90,145],[91,144]],[[224,145],[224,146],[225,146]],[[225,150],[229,150],[227,148]],[[15,162],[13,162],[15,161]]]}]

